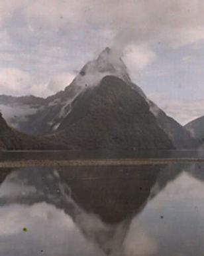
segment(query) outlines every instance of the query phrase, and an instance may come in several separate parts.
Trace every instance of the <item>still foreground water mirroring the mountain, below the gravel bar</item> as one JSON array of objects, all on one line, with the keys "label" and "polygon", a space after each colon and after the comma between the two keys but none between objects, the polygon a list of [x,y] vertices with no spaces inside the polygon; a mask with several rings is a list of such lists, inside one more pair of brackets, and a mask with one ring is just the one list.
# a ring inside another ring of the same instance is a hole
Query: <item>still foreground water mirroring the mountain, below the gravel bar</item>
[{"label": "still foreground water mirroring the mountain, below the gravel bar", "polygon": [[0,170],[0,255],[203,255],[204,164]]}]

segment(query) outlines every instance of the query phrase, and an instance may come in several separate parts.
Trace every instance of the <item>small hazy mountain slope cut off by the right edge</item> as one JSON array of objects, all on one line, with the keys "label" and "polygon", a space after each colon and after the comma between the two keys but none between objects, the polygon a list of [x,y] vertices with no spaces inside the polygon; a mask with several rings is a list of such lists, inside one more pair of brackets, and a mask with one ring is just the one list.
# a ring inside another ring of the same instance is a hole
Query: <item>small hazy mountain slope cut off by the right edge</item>
[{"label": "small hazy mountain slope cut off by the right edge", "polygon": [[201,116],[188,124],[185,124],[185,128],[195,138],[199,138],[204,142],[204,116]]}]

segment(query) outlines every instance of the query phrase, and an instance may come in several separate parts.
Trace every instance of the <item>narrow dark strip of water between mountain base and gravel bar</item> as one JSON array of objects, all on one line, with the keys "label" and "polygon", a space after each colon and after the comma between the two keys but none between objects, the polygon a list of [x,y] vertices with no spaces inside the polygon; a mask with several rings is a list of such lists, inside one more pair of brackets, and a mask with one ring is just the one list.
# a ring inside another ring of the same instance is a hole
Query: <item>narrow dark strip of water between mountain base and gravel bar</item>
[{"label": "narrow dark strip of water between mountain base and gravel bar", "polygon": [[93,158],[204,158],[204,150],[90,150],[90,151],[5,151],[0,152],[0,161],[15,160],[68,160]]}]

